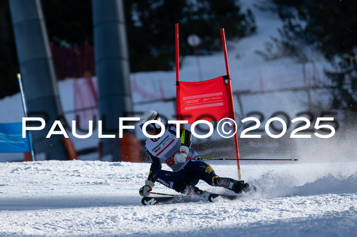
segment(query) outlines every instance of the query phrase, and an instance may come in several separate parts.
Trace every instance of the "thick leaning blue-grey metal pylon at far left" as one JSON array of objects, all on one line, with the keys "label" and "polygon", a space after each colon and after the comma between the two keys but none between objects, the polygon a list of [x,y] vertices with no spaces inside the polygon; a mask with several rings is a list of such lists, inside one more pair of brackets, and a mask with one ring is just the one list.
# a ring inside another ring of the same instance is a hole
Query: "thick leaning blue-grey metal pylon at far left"
[{"label": "thick leaning blue-grey metal pylon at far left", "polygon": [[63,135],[45,138],[63,113],[41,2],[9,0],[9,6],[27,113],[46,120],[44,129],[32,132],[35,154],[68,160]]}]

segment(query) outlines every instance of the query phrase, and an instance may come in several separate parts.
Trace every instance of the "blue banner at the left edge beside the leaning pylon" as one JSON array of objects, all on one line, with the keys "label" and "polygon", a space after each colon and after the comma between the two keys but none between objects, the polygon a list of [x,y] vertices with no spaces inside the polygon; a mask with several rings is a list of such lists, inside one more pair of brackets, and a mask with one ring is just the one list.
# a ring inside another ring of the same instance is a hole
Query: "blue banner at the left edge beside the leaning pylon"
[{"label": "blue banner at the left edge beside the leaning pylon", "polygon": [[0,153],[31,152],[30,135],[22,138],[22,123],[0,124]]}]

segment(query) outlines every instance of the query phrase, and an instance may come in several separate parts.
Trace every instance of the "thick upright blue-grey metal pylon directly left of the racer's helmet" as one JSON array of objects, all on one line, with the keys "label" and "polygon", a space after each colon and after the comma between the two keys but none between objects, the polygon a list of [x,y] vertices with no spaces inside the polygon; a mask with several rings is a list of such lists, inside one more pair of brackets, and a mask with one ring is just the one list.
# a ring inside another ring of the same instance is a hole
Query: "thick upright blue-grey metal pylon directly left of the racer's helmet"
[{"label": "thick upright blue-grey metal pylon directly left of the racer's helmet", "polygon": [[[124,149],[123,140],[118,139],[119,117],[133,114],[124,6],[122,0],[92,0],[92,11],[99,117],[106,136],[101,138],[102,155],[123,161],[123,152],[138,143]],[[134,130],[125,133],[135,140]],[[139,147],[135,150],[140,151]]]}]

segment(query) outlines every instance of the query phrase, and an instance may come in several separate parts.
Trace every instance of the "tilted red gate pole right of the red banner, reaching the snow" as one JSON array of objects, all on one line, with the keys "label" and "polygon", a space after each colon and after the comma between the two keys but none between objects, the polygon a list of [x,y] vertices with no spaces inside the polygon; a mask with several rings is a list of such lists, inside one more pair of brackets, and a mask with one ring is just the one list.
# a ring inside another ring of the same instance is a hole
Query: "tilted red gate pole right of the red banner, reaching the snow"
[{"label": "tilted red gate pole right of the red banner, reaching the snow", "polygon": [[[232,95],[232,85],[231,85],[231,75],[230,75],[230,67],[228,66],[228,56],[227,56],[227,46],[225,44],[225,35],[224,35],[224,28],[221,29],[221,36],[222,36],[222,45],[223,45],[223,53],[224,53],[224,61],[225,61],[225,70],[227,71],[227,76],[228,76],[228,84],[230,85],[230,93],[231,93],[231,98],[230,102],[232,104],[232,109],[233,113],[231,114],[231,119],[236,121],[236,116],[234,113],[234,104],[233,104],[233,95]],[[229,103],[229,102],[228,102]],[[233,130],[236,131],[236,125],[233,124]],[[237,157],[237,167],[238,167],[238,180],[242,180],[242,173],[241,173],[241,164],[239,161],[239,148],[238,148],[238,135],[234,136],[234,144],[236,146],[236,157]]]}]

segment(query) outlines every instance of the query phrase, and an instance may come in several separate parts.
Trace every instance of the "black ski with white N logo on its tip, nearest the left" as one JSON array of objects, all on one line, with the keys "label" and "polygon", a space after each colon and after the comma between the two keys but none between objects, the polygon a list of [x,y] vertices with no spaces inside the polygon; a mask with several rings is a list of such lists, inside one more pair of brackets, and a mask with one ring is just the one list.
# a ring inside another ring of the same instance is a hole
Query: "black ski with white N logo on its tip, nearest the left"
[{"label": "black ski with white N logo on its tip, nearest the left", "polygon": [[180,202],[197,202],[207,200],[207,195],[187,195],[187,196],[170,196],[170,197],[143,197],[141,203],[143,205],[170,204]]}]

